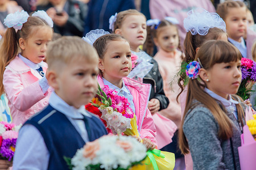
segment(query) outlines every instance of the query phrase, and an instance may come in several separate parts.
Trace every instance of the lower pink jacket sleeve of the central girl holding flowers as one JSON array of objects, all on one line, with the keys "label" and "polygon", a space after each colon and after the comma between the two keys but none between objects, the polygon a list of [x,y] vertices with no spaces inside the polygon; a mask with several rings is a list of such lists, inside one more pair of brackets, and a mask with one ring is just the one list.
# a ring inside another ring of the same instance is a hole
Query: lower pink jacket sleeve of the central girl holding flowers
[{"label": "lower pink jacket sleeve of the central girl holding flowers", "polygon": [[150,111],[146,110],[146,115],[144,117],[144,120],[142,122],[142,127],[141,127],[141,138],[148,138],[150,139],[151,142],[153,142],[157,146],[157,142],[155,139],[156,136],[156,129],[155,129],[155,124],[152,118],[152,115]]}]

